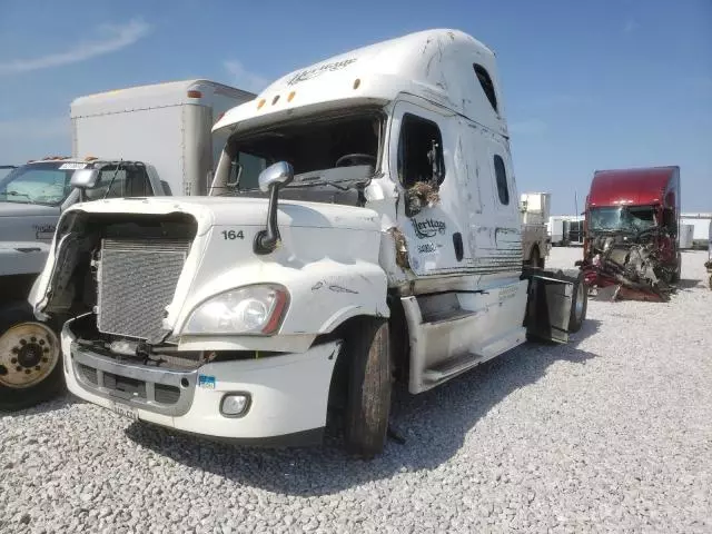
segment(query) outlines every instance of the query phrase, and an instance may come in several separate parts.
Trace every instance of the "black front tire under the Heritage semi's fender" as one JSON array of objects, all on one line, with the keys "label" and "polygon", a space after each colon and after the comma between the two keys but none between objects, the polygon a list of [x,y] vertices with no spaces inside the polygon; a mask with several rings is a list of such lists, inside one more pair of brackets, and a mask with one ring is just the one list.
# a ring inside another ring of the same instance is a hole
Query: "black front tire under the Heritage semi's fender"
[{"label": "black front tire under the Heritage semi's fender", "polygon": [[348,377],[344,412],[346,452],[370,459],[386,443],[390,413],[390,348],[388,323],[356,319],[345,343]]}]

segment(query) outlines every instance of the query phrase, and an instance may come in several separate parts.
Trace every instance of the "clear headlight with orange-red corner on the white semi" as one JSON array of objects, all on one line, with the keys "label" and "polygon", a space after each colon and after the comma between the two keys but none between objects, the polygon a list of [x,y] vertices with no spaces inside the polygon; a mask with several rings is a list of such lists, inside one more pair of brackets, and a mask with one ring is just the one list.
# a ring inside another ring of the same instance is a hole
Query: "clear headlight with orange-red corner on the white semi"
[{"label": "clear headlight with orange-red corner on the white semi", "polygon": [[287,289],[277,285],[230,289],[197,306],[182,333],[273,334],[279,328],[288,300]]}]

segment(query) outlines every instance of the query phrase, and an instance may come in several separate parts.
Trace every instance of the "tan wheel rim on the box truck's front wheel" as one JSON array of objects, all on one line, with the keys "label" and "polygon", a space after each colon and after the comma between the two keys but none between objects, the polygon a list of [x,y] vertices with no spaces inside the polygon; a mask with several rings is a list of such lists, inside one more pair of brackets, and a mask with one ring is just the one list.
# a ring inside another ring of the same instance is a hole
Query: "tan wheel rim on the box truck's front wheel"
[{"label": "tan wheel rim on the box truck's front wheel", "polygon": [[36,386],[59,362],[57,335],[41,323],[22,323],[0,336],[0,385],[13,389]]}]

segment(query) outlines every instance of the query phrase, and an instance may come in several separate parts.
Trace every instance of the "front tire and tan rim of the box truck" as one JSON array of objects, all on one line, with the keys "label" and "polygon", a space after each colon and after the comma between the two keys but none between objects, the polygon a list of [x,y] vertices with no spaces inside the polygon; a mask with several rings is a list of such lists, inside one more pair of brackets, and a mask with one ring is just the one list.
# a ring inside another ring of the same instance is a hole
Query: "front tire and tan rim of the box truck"
[{"label": "front tire and tan rim of the box truck", "polygon": [[34,319],[29,304],[0,309],[0,411],[14,412],[60,393],[61,346],[56,330]]}]

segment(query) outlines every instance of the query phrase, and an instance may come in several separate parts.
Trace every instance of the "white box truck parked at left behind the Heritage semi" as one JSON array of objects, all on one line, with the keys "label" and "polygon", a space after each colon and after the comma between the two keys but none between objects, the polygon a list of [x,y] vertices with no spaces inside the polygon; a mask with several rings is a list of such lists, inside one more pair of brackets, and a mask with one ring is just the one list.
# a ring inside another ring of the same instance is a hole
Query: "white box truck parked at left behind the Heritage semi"
[{"label": "white box truck parked at left behind the Heritage semi", "polygon": [[80,97],[70,108],[72,157],[7,169],[0,178],[0,409],[36,404],[62,384],[57,323],[36,322],[27,296],[57,220],[80,200],[73,172],[96,171],[83,200],[205,195],[225,144],[211,127],[254,97],[209,80]]}]

